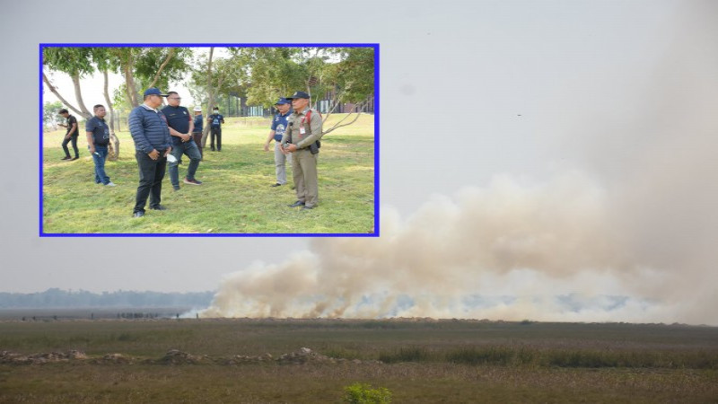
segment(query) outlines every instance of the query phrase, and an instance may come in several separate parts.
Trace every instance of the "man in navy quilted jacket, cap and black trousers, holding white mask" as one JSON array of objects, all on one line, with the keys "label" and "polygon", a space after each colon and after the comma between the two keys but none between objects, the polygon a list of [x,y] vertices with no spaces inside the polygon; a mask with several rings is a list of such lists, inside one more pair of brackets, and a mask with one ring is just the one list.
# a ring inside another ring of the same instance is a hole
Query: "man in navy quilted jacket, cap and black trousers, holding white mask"
[{"label": "man in navy quilted jacket, cap and black trousers, holding white mask", "polygon": [[162,179],[167,166],[167,154],[172,151],[170,128],[161,110],[162,97],[167,94],[157,88],[144,92],[144,102],[129,113],[129,133],[135,141],[135,158],[140,169],[140,185],[137,188],[135,217],[144,216],[144,205],[150,198],[150,209],[165,210],[160,205]]}]

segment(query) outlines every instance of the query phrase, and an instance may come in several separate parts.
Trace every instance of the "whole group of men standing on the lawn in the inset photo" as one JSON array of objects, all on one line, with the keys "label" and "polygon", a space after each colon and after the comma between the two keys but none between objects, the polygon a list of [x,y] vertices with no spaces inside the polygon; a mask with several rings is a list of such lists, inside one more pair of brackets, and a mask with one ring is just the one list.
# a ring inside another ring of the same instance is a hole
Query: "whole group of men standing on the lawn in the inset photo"
[{"label": "whole group of men standing on the lawn in the inset photo", "polygon": [[[162,98],[167,105],[160,110]],[[291,97],[280,98],[275,106],[278,112],[272,120],[271,130],[264,145],[268,151],[272,139],[275,145],[276,183],[273,187],[286,184],[286,162],[292,164],[293,183],[297,200],[289,205],[312,209],[319,198],[317,185],[317,154],[319,154],[321,115],[309,108],[309,95],[306,92],[294,92]],[[144,92],[143,103],[132,110],[128,118],[130,135],[135,142],[136,160],[139,167],[139,186],[136,192],[134,217],[144,216],[144,206],[149,198],[149,208],[165,210],[162,200],[162,180],[167,165],[170,167],[172,189],[180,189],[178,164],[182,154],[189,158],[187,176],[183,182],[188,185],[201,185],[195,178],[199,162],[202,161],[202,109],[195,107],[194,116],[188,109],[180,106],[181,97],[177,92],[162,93],[157,88]],[[291,106],[290,106],[291,104]],[[224,117],[215,107],[207,119],[211,130],[211,150],[222,150],[222,124]],[[88,149],[94,162],[95,182],[105,186],[115,186],[104,170],[109,144],[109,127],[105,122],[105,108],[95,105],[94,116],[85,124]],[[67,133],[63,141],[66,157],[63,160],[79,158],[77,150],[77,119],[67,110],[60,110],[67,119]],[[69,154],[67,145],[72,142],[74,158]],[[169,161],[169,164],[167,162]]]}]

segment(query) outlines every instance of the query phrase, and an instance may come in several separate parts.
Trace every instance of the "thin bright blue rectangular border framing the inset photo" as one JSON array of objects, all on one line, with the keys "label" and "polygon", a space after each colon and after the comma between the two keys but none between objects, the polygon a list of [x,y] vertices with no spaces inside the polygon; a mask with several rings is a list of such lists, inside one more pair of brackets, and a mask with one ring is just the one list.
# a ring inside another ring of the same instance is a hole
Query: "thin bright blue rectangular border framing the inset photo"
[{"label": "thin bright blue rectangular border framing the inset photo", "polygon": [[[374,228],[373,233],[45,233],[43,229],[43,80],[42,61],[44,48],[373,48],[374,49]],[[378,43],[40,43],[39,44],[39,237],[379,237],[380,228],[380,151],[379,151],[379,44]]]}]

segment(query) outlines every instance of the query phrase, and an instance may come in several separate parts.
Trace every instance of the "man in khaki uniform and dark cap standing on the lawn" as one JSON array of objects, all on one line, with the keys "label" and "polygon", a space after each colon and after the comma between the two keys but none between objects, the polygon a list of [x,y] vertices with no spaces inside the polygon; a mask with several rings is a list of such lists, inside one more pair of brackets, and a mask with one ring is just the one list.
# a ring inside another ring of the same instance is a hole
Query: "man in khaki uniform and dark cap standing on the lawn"
[{"label": "man in khaki uniform and dark cap standing on the lawn", "polygon": [[302,210],[317,206],[317,156],[320,153],[321,115],[309,108],[309,94],[294,92],[285,97],[292,101],[294,112],[287,119],[285,135],[282,136],[282,153],[292,153],[292,174],[297,201],[290,207],[302,206]]}]

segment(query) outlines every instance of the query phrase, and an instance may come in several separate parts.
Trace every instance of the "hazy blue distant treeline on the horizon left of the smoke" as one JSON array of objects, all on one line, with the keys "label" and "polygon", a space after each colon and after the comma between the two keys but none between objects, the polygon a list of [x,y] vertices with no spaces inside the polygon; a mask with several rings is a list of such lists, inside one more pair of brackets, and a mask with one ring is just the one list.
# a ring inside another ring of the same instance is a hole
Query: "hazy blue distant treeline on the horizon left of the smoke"
[{"label": "hazy blue distant treeline on the horizon left of the smoke", "polygon": [[207,307],[215,292],[92,292],[51,288],[34,294],[0,293],[0,308],[45,307]]}]

